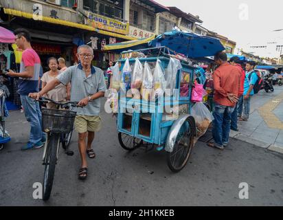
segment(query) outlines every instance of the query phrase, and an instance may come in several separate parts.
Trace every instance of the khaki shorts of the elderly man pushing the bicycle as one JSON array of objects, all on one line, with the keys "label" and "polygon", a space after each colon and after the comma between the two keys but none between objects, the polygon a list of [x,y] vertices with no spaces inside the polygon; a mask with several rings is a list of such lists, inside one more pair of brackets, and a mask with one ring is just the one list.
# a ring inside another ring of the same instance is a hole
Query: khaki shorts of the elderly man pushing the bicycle
[{"label": "khaki shorts of the elderly man pushing the bicycle", "polygon": [[100,131],[100,116],[76,115],[75,128],[78,133],[86,133],[87,131]]}]

